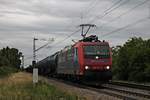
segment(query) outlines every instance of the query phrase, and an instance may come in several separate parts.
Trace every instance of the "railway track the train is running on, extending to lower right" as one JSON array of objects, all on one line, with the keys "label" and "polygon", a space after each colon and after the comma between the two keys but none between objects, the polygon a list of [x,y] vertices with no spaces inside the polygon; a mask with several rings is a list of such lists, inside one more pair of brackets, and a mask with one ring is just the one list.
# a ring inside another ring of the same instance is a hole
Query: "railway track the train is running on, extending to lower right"
[{"label": "railway track the train is running on, extending to lower right", "polygon": [[[102,84],[101,86],[89,86],[85,84],[79,84],[75,82],[66,81],[64,79],[56,79],[53,80],[63,82],[68,85],[72,85],[75,87],[92,90],[101,94],[110,95],[113,97],[117,97],[122,100],[150,100],[150,91],[147,89],[141,89],[135,86],[118,85],[114,83]],[[143,86],[144,87],[144,86]]]}]

